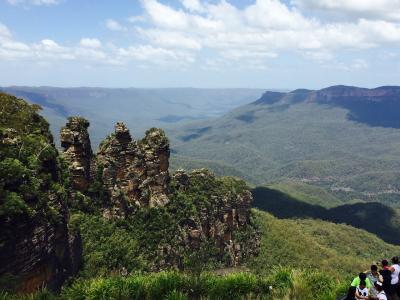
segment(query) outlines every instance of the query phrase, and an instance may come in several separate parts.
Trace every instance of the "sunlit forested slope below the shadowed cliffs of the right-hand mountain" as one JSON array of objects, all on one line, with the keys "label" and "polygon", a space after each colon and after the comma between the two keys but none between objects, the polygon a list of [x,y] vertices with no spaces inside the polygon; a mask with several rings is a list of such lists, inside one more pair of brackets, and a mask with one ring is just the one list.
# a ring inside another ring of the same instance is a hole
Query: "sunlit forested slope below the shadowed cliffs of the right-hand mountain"
[{"label": "sunlit forested slope below the shadowed cliffs of the right-hand mountain", "polygon": [[[253,184],[297,179],[344,200],[400,199],[400,130],[349,121],[347,111],[314,103],[246,105],[170,133],[177,154],[222,161]],[[250,121],[240,118],[252,116]],[[194,128],[211,127],[189,141]]]}]

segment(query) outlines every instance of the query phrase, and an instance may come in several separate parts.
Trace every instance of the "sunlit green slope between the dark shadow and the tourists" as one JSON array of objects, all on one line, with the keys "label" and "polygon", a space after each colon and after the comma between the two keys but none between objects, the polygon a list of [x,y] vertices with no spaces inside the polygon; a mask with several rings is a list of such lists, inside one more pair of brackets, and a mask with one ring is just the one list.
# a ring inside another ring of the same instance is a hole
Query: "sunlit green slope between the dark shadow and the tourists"
[{"label": "sunlit green slope between the dark shadow and the tourists", "polygon": [[282,265],[347,277],[400,253],[399,246],[348,225],[277,219],[266,212],[254,212],[262,231],[261,253],[249,266],[257,273],[268,273],[270,268]]}]

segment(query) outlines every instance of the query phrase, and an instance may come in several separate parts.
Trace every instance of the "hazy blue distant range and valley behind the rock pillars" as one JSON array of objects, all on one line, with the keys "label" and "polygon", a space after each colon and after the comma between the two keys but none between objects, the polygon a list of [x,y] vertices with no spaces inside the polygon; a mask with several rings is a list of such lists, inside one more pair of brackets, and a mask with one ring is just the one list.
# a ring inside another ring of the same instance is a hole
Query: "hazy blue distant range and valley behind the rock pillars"
[{"label": "hazy blue distant range and valley behind the rock pillars", "polygon": [[86,87],[3,87],[0,90],[41,105],[56,138],[66,117],[85,116],[91,123],[89,131],[94,147],[113,131],[116,121],[124,121],[135,136],[142,136],[150,127],[166,128],[188,120],[221,116],[252,102],[265,91]]}]

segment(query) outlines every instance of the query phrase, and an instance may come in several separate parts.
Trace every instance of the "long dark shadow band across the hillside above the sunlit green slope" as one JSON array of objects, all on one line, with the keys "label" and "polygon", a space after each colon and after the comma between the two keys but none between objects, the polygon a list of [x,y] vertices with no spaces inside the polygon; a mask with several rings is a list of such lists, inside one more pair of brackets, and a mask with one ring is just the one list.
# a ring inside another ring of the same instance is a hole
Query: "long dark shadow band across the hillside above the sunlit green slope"
[{"label": "long dark shadow band across the hillside above the sunlit green slope", "polygon": [[393,220],[397,217],[396,212],[386,205],[370,202],[346,204],[327,209],[265,187],[257,187],[252,193],[253,206],[277,218],[313,218],[345,223],[376,234],[388,243],[400,244],[400,231],[393,224]]}]

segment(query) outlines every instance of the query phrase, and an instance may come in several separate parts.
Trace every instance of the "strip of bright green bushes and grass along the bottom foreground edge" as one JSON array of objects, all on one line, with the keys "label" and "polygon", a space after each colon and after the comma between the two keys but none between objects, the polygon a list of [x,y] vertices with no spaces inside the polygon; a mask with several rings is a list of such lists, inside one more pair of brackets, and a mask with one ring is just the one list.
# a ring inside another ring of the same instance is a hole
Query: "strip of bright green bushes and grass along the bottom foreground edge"
[{"label": "strip of bright green bushes and grass along the bottom foreground edge", "polygon": [[0,294],[0,299],[335,299],[344,286],[327,274],[310,270],[277,267],[268,276],[232,273],[200,276],[179,272],[135,274],[91,280],[76,280],[60,295],[46,291],[30,296]]}]

